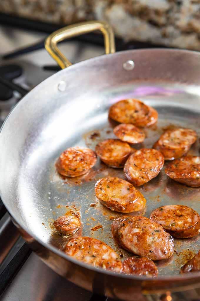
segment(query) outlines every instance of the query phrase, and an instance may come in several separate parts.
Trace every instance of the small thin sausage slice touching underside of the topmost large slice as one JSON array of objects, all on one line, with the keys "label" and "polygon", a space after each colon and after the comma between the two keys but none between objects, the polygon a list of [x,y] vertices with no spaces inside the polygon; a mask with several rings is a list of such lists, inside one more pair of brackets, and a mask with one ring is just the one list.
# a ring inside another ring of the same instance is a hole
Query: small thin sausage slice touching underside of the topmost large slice
[{"label": "small thin sausage slice touching underside of the topmost large slice", "polygon": [[129,143],[141,143],[145,139],[144,131],[133,124],[119,124],[115,126],[113,132],[120,140]]}]

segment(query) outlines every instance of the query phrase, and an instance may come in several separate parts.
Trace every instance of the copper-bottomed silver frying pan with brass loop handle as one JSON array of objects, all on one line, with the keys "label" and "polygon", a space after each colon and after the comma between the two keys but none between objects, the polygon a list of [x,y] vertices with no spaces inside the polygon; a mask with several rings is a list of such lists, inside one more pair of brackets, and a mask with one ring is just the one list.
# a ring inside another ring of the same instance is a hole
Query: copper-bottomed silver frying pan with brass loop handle
[{"label": "copper-bottomed silver frying pan with brass loop handle", "polygon": [[[71,66],[57,43],[97,29],[104,35],[106,55]],[[94,149],[99,141],[113,138],[108,108],[124,98],[139,98],[159,113],[157,126],[145,129],[147,138],[137,148],[152,147],[169,125],[190,127],[200,134],[200,54],[172,49],[114,53],[112,29],[98,21],[60,29],[46,39],[45,46],[60,67],[67,69],[29,92],[7,117],[0,133],[0,194],[13,223],[47,265],[85,289],[113,298],[144,300],[152,293],[199,287],[199,273],[179,273],[181,265],[200,249],[199,236],[175,239],[174,256],[168,262],[158,262],[159,276],[151,279],[78,262],[60,250],[65,239],[53,233],[51,225],[69,208],[75,208],[82,215],[82,235],[103,240],[122,259],[130,256],[115,244],[110,231],[111,219],[120,213],[103,207],[94,194],[99,178],[124,178],[123,170],[108,168],[99,160],[82,177],[62,178],[55,161],[67,147]],[[199,155],[199,141],[190,154]],[[137,214],[149,216],[164,204],[187,205],[200,213],[200,189],[174,182],[163,171],[138,189],[147,199],[147,207]],[[91,230],[95,225],[103,228]]]}]

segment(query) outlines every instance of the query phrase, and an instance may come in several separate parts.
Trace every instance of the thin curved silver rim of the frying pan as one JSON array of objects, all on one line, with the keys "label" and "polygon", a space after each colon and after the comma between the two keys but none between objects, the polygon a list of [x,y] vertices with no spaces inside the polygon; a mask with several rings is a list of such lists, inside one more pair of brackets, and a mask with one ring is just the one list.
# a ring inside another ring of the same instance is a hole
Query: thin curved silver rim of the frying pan
[{"label": "thin curved silver rim of the frying pan", "polygon": [[[185,49],[178,49],[178,48],[145,48],[145,49],[134,49],[134,50],[126,50],[126,51],[118,51],[114,54],[103,54],[103,55],[100,55],[98,57],[93,57],[93,58],[90,58],[88,60],[85,60],[85,61],[82,61],[82,62],[79,62],[79,63],[76,63],[70,67],[67,68],[67,70],[73,70],[73,68],[76,68],[76,67],[82,67],[82,65],[84,66],[85,64],[88,64],[89,62],[93,62],[95,60],[103,60],[105,57],[109,58],[110,56],[115,56],[117,57],[118,55],[122,55],[123,53],[127,53],[127,52],[130,52],[130,53],[135,53],[135,52],[156,52],[156,51],[161,51],[161,52],[169,52],[169,53],[172,53],[172,52],[179,52],[179,53],[188,53],[188,54],[196,54],[197,56],[200,56],[200,53],[198,51],[194,51],[194,50],[185,50]],[[58,73],[63,73],[64,72],[67,72],[65,69],[63,70],[60,70],[58,71]],[[53,74],[52,76],[48,77],[47,79],[45,79],[44,81],[42,81],[40,84],[38,84],[36,87],[34,87],[30,92],[28,92],[27,95],[29,95],[32,91],[37,91],[37,89],[40,89],[40,85],[43,84],[43,82],[46,82],[47,80],[49,80],[50,78],[52,77],[55,77],[57,75],[57,73]],[[6,117],[6,119],[4,120],[4,123],[3,125],[1,126],[1,129],[0,129],[0,140],[1,140],[1,132],[4,130],[5,128],[5,125],[7,123],[7,120],[9,119],[9,117],[11,116],[11,114],[15,111],[15,108],[22,105],[24,103],[24,101],[26,100],[26,96],[25,95],[14,107],[13,109],[10,111],[10,113],[8,114],[8,116]],[[34,101],[34,100],[32,100]],[[119,278],[125,278],[125,279],[129,279],[129,280],[139,280],[139,281],[154,281],[154,283],[156,282],[159,282],[159,281],[162,281],[162,280],[166,280],[166,281],[180,281],[181,279],[182,280],[190,280],[190,279],[196,279],[196,278],[199,278],[200,276],[200,272],[192,272],[192,273],[185,273],[185,274],[179,274],[179,275],[162,275],[162,276],[159,276],[157,278],[151,278],[151,277],[142,277],[142,276],[134,276],[134,275],[126,275],[126,274],[122,274],[122,273],[116,273],[116,272],[111,272],[111,271],[108,271],[108,270],[104,270],[104,269],[101,269],[101,268],[96,268],[92,265],[88,265],[84,262],[81,262],[77,259],[74,259],[73,257],[70,257],[68,256],[67,254],[65,254],[64,252],[60,251],[59,249],[57,249],[56,247],[52,246],[51,244],[49,243],[44,243],[39,237],[37,237],[35,234],[32,233],[32,231],[30,229],[26,229],[23,225],[22,225],[22,222],[21,221],[17,221],[17,219],[14,217],[14,214],[10,212],[10,209],[8,209],[7,207],[7,204],[6,204],[6,201],[4,201],[4,198],[2,197],[2,193],[1,193],[1,190],[0,190],[0,197],[1,197],[1,200],[5,206],[5,208],[7,209],[9,215],[13,218],[14,221],[16,221],[17,225],[19,225],[19,227],[21,229],[23,229],[27,234],[29,234],[34,240],[36,240],[37,242],[39,242],[39,244],[41,244],[43,247],[47,248],[48,250],[50,250],[51,252],[57,254],[58,256],[64,258],[64,259],[67,259],[67,261],[69,262],[72,262],[76,265],[79,265],[85,269],[88,269],[88,270],[92,270],[96,273],[101,273],[101,274],[106,274],[108,276],[114,276],[114,277],[119,277]],[[180,284],[181,286],[181,284]]]}]

